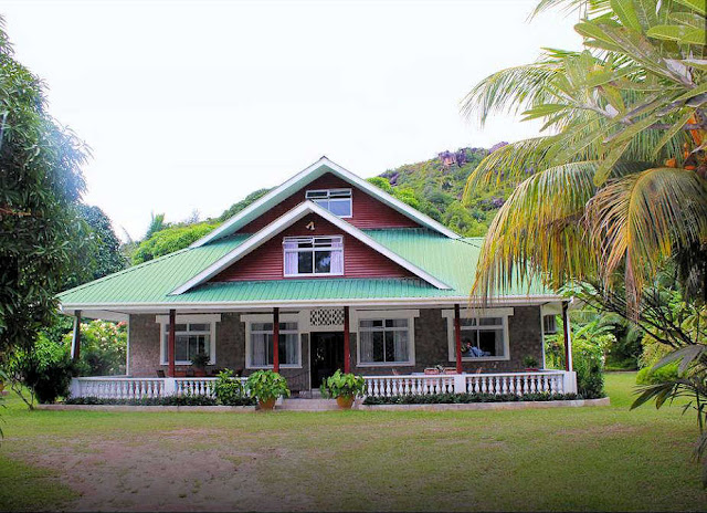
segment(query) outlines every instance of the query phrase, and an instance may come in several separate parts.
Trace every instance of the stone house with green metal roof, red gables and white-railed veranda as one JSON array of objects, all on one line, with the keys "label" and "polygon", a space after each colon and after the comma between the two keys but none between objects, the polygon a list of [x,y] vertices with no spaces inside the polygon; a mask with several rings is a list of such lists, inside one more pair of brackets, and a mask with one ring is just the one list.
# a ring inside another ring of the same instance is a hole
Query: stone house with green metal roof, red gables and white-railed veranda
[{"label": "stone house with green metal roof, red gables and white-railed veranda", "polygon": [[193,391],[200,353],[208,374],[274,368],[295,391],[339,368],[390,392],[435,366],[456,391],[576,391],[571,358],[566,371],[523,364],[544,364],[545,317],[567,314],[563,297],[534,284],[469,307],[481,242],[323,157],[189,248],[62,293],[76,320],[129,324],[128,376],[74,392]]}]

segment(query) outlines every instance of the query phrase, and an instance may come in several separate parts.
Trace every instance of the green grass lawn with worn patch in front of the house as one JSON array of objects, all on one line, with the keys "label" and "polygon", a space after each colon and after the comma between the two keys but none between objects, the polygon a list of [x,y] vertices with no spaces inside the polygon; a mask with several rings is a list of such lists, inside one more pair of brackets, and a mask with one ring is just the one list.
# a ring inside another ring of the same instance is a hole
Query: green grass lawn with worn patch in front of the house
[{"label": "green grass lawn with worn patch in front of the house", "polygon": [[611,407],[235,413],[2,410],[0,510],[707,511],[694,417]]}]

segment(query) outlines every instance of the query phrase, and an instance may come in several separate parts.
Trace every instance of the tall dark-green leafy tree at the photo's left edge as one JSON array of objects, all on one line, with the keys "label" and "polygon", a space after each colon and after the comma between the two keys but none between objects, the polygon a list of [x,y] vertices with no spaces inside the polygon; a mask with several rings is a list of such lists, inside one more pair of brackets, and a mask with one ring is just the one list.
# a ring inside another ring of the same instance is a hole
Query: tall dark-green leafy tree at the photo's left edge
[{"label": "tall dark-green leafy tree at the photo's left edge", "polygon": [[0,27],[0,355],[32,347],[81,249],[86,153],[46,112],[41,81]]}]

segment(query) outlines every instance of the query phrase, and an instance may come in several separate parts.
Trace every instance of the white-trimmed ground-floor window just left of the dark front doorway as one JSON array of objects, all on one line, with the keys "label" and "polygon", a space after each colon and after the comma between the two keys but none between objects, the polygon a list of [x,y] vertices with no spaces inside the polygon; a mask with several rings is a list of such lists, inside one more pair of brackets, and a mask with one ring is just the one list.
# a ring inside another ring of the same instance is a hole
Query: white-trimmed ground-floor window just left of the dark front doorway
[{"label": "white-trimmed ground-floor window just left of the dark front doorway", "polygon": [[[247,368],[273,367],[273,322],[246,321],[247,326]],[[299,332],[296,322],[279,323],[279,365],[300,367]]]}]

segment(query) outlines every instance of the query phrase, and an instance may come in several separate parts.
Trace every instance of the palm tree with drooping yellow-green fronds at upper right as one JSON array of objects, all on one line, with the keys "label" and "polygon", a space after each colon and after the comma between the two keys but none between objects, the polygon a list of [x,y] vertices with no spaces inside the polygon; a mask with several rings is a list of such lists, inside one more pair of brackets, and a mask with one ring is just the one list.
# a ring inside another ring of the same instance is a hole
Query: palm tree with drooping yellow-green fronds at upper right
[{"label": "palm tree with drooping yellow-green fronds at upper right", "polygon": [[536,12],[556,6],[583,11],[584,50],[546,50],[463,103],[482,124],[497,112],[544,122],[541,136],[496,150],[469,176],[467,195],[520,181],[488,230],[473,294],[598,278],[625,283],[635,307],[676,256],[707,290],[705,0],[544,0]]}]

